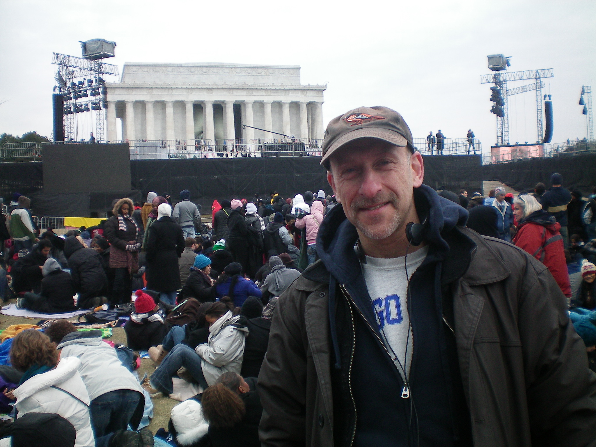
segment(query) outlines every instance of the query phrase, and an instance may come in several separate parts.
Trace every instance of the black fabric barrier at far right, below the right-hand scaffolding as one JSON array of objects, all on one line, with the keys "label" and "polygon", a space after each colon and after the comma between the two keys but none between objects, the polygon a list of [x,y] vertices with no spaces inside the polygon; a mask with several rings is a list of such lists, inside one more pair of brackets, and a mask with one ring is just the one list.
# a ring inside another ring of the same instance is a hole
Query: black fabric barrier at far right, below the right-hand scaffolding
[{"label": "black fabric barrier at far right, below the right-hand scaffolding", "polygon": [[532,190],[538,182],[551,185],[551,175],[563,176],[565,188],[592,194],[596,186],[596,154],[560,154],[546,159],[487,164],[482,167],[485,181],[498,180],[516,191]]}]

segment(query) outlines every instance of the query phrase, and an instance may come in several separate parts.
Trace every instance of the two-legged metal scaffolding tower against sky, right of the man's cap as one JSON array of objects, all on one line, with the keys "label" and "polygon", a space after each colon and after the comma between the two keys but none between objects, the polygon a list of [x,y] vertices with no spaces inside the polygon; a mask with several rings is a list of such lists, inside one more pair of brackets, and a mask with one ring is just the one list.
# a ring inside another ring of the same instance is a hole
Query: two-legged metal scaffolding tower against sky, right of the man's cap
[{"label": "two-legged metal scaffolding tower against sky, right of the man's cap", "polygon": [[[542,142],[544,139],[544,126],[542,124],[542,88],[544,88],[544,83],[542,82],[542,79],[545,77],[554,77],[553,70],[524,70],[523,72],[498,71],[491,73],[491,75],[482,75],[480,77],[481,84],[495,84],[501,91],[501,97],[503,101],[503,116],[496,117],[496,145],[502,146],[509,144],[509,117],[507,110],[507,98],[512,95],[517,95],[532,90],[536,91],[536,123],[538,125],[537,141]],[[522,85],[520,87],[507,89],[507,82],[517,80],[533,80],[534,82]]]}]

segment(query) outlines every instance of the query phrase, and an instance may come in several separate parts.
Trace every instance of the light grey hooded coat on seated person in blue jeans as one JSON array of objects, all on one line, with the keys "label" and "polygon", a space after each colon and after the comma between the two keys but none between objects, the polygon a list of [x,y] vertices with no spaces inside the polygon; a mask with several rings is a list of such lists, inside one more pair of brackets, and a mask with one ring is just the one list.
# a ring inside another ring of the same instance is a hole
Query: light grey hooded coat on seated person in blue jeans
[{"label": "light grey hooded coat on seated person in blue jeans", "polygon": [[232,371],[240,374],[244,355],[244,339],[249,334],[246,326],[236,327],[240,315],[228,311],[209,328],[207,343],[195,347],[201,358],[201,367],[207,385],[211,386],[219,376]]}]

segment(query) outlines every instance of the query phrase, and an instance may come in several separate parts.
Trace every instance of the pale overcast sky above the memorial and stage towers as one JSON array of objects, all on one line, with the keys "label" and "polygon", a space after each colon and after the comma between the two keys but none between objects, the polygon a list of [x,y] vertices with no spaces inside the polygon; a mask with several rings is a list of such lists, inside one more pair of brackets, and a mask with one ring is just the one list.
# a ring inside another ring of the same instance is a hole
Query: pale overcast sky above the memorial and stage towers
[{"label": "pale overcast sky above the memorial and stage towers", "polygon": [[[471,128],[485,152],[496,140],[486,55],[512,56],[509,70],[554,69],[553,142],[586,136],[579,93],[596,89],[594,0],[0,0],[0,17],[0,133],[15,135],[51,134],[52,52],[80,56],[78,41],[93,38],[117,43],[105,62],[120,72],[126,61],[300,65],[302,83],[327,83],[325,126],[386,105],[414,136]],[[511,142],[536,141],[535,98],[511,98]]]}]

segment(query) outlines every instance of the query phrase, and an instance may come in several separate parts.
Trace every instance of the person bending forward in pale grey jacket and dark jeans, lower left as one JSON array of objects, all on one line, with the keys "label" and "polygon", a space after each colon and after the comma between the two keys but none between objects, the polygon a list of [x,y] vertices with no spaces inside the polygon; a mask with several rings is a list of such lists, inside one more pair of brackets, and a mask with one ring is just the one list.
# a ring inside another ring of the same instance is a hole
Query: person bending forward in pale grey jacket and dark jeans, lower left
[{"label": "person bending forward in pale grey jacket and dark jeans, lower left", "polygon": [[102,341],[102,332],[79,332],[70,321],[61,319],[45,333],[61,349],[60,356],[80,360],[78,370],[91,400],[95,439],[126,430],[129,424],[136,430],[145,406],[141,384],[122,365],[116,349]]}]

